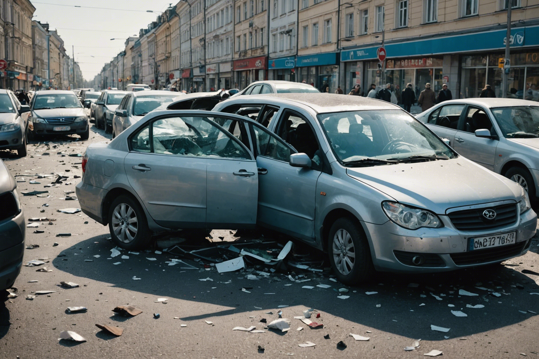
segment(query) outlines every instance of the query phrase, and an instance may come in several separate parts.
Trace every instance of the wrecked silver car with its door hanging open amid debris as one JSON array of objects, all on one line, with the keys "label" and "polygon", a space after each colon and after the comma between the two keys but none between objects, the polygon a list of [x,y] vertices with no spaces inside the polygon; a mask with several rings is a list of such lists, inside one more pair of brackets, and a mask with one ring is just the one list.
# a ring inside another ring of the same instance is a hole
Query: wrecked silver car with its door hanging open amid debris
[{"label": "wrecked silver car with its door hanging open amid debris", "polygon": [[[252,107],[261,123],[231,113]],[[522,187],[391,103],[272,94],[216,109],[156,110],[89,145],[77,185],[83,212],[127,249],[152,231],[258,224],[328,251],[349,284],[375,269],[501,262],[526,253],[535,235]]]}]

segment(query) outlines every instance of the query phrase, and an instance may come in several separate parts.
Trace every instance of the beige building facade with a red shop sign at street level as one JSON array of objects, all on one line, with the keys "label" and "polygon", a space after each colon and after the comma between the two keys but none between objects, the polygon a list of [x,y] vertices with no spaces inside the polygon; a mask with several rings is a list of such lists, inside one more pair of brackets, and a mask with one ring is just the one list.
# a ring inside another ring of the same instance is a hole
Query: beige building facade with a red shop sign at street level
[{"label": "beige building facade with a red shop sign at street level", "polygon": [[233,88],[268,77],[268,0],[234,2]]}]

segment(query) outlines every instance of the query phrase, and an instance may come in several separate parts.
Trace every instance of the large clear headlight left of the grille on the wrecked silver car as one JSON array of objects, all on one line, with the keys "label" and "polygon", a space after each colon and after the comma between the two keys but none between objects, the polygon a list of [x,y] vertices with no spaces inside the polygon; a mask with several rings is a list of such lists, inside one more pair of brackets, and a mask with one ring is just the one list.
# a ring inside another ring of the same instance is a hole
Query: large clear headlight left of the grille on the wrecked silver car
[{"label": "large clear headlight left of the grille on the wrecked silver car", "polygon": [[418,229],[421,227],[440,228],[444,226],[436,214],[426,209],[413,208],[390,201],[382,202],[382,209],[389,219],[400,227]]}]

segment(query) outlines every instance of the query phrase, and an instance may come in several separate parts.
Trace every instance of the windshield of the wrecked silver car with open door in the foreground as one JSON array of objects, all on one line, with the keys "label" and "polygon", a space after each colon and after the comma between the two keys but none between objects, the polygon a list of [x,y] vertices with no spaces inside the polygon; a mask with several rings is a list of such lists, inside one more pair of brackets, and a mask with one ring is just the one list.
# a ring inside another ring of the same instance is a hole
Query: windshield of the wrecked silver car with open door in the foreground
[{"label": "windshield of the wrecked silver car with open door in the foreground", "polygon": [[319,114],[337,158],[345,166],[377,166],[454,158],[432,132],[401,110]]}]

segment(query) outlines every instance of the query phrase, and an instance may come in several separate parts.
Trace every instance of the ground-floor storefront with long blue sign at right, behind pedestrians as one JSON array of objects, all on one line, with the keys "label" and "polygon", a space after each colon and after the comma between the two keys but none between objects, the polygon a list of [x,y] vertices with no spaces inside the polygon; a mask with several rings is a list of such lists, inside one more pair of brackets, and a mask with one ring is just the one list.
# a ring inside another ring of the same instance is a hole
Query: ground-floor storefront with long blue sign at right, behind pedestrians
[{"label": "ground-floor storefront with long blue sign at right, behind pedestrians", "polygon": [[[447,82],[453,98],[466,98],[478,97],[488,83],[501,97],[502,69],[498,62],[503,58],[505,38],[506,30],[492,30],[389,43],[385,45],[388,59],[384,73],[378,71],[379,45],[344,50],[341,62],[345,62],[348,86],[360,75],[363,89],[371,83],[391,83],[403,89],[411,82],[419,93],[427,82],[435,91]],[[510,44],[508,97],[539,97],[539,26],[513,27]]]}]

